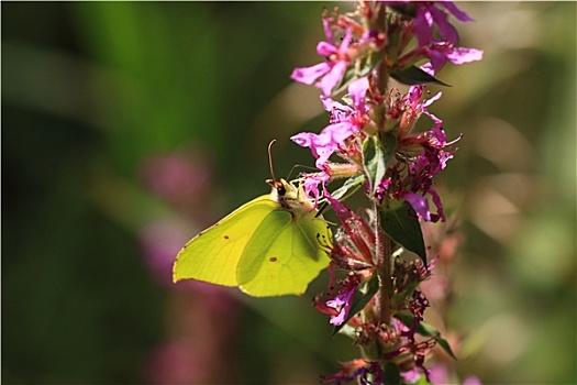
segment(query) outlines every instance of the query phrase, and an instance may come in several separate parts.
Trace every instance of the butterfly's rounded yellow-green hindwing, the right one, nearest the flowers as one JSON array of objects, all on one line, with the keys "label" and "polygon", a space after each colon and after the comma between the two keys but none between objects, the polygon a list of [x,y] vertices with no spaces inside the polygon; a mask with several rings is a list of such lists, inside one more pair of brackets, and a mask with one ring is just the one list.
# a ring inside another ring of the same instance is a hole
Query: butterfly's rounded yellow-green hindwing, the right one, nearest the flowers
[{"label": "butterfly's rounded yellow-green hindwing, the right one, nearest the flowers", "polygon": [[241,289],[252,296],[302,295],[329,265],[331,232],[322,218],[278,209],[263,219],[238,262]]}]

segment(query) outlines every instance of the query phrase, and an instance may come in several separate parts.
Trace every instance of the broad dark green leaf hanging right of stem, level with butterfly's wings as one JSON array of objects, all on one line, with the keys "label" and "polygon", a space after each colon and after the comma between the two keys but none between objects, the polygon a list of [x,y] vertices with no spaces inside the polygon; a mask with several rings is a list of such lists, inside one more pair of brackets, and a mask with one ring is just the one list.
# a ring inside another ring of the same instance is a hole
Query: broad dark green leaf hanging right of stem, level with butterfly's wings
[{"label": "broad dark green leaf hanging right of stem, level with butterfly's wings", "polygon": [[389,207],[380,211],[380,224],[382,230],[397,243],[415,253],[426,266],[426,252],[423,241],[423,232],[411,205],[403,200],[389,202]]}]

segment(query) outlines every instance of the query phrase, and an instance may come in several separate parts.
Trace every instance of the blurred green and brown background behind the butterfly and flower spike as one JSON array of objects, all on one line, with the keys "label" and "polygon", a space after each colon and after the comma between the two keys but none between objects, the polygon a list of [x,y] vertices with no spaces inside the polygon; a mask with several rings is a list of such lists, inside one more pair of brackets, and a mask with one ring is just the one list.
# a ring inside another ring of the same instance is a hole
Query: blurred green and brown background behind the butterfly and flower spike
[{"label": "blurred green and brown background behind the butterfly and flower spike", "polygon": [[[318,383],[356,355],[302,298],[170,284],[196,232],[313,165],[331,2],[2,2],[2,383]],[[352,10],[348,3],[340,3]],[[431,111],[463,241],[431,323],[461,376],[575,384],[576,3],[459,2]],[[432,88],[433,91],[436,89]],[[434,315],[434,310],[432,310]],[[440,324],[442,323],[442,324]]]}]

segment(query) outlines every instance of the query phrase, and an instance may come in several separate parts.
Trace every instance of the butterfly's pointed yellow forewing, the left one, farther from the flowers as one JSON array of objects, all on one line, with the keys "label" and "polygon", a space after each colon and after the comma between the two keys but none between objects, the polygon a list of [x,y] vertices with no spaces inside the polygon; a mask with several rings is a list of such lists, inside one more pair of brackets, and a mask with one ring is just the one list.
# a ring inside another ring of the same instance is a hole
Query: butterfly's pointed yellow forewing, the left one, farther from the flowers
[{"label": "butterfly's pointed yellow forewing, the left one, farther from the flowers", "polygon": [[243,251],[278,206],[268,195],[260,196],[199,233],[178,253],[173,280],[192,278],[238,286],[236,271]]}]

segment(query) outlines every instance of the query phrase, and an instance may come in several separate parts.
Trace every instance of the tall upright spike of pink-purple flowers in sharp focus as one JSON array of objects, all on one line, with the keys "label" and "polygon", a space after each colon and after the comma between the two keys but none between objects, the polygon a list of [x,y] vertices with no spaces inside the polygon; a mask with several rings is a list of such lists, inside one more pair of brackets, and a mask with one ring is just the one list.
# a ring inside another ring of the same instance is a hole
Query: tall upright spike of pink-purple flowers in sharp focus
[{"label": "tall upright spike of pink-purple flowers in sharp focus", "polygon": [[[450,1],[360,1],[352,13],[325,11],[326,41],[317,46],[324,61],[291,74],[321,90],[330,117],[320,133],[291,138],[310,148],[319,169],[301,175],[306,194],[315,208],[330,207],[340,224],[329,288],[314,306],[363,353],[323,382],[429,382],[431,348],[440,344],[452,354],[423,321],[429,302],[419,284],[433,263],[420,221],[445,221],[433,178],[454,156],[458,138],[447,141],[443,121],[429,111],[442,95],[430,96],[425,84],[444,85],[435,74],[447,62],[479,61],[482,52],[458,46],[450,15],[471,21]],[[391,87],[390,79],[400,86]],[[419,132],[422,116],[432,128]],[[330,190],[335,180],[341,187]],[[369,202],[359,213],[345,202],[357,191]],[[404,251],[418,258],[407,260]]]}]

